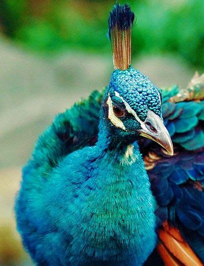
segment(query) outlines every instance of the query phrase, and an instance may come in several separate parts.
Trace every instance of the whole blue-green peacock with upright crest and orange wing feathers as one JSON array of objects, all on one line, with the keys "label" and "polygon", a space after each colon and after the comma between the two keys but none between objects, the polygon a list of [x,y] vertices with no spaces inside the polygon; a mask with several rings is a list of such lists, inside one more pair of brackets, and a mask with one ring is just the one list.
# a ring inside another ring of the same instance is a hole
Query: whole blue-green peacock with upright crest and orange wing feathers
[{"label": "whole blue-green peacock with upright crest and orange wing feathers", "polygon": [[204,87],[131,66],[135,15],[108,18],[108,86],[56,116],[22,170],[17,229],[38,266],[204,265]]}]

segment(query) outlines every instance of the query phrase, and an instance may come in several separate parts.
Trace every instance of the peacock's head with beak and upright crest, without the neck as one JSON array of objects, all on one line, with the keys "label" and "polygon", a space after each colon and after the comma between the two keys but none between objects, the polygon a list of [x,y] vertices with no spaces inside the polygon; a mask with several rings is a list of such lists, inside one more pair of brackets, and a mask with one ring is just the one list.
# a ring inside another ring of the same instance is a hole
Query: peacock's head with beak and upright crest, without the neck
[{"label": "peacock's head with beak and upright crest, without the neck", "polygon": [[115,70],[103,102],[106,128],[117,140],[132,143],[146,137],[173,155],[172,141],[162,119],[161,91],[130,66],[133,21],[130,7],[118,3],[108,19]]}]

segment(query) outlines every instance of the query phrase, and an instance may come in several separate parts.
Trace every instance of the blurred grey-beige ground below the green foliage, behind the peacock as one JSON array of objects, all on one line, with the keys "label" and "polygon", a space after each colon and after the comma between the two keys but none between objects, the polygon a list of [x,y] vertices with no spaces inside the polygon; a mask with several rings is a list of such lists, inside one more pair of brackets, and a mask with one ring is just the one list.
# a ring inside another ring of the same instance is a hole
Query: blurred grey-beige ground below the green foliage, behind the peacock
[{"label": "blurred grey-beige ground below the green foliage, behind the peacock", "polygon": [[[133,60],[159,87],[185,87],[195,70],[172,56]],[[20,168],[34,142],[58,112],[108,84],[111,55],[67,52],[52,59],[31,55],[0,40],[0,258],[24,258],[12,211]],[[9,236],[8,236],[9,232]],[[13,251],[13,253],[12,253]],[[7,252],[7,253],[6,253]],[[3,255],[2,255],[3,254]],[[7,255],[6,255],[7,254]],[[27,257],[26,257],[27,258]],[[2,261],[0,260],[0,265]],[[30,261],[26,265],[31,265]]]}]

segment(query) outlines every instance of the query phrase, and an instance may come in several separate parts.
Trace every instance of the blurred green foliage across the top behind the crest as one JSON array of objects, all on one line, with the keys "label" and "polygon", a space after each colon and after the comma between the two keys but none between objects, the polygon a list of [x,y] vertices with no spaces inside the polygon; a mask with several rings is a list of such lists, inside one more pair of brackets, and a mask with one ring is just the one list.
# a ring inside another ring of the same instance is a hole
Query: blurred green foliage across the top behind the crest
[{"label": "blurred green foliage across the top behind the crest", "polygon": [[[121,3],[125,1],[121,0]],[[137,16],[133,55],[178,54],[204,67],[204,0],[128,0]],[[69,49],[109,52],[110,0],[1,0],[3,32],[43,53]]]}]

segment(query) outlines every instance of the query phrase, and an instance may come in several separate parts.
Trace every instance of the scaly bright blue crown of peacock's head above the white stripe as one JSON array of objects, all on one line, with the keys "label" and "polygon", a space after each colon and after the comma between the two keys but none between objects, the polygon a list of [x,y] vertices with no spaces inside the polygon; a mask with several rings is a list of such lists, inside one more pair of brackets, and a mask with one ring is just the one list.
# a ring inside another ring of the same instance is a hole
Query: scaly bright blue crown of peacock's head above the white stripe
[{"label": "scaly bright blue crown of peacock's head above the white stripe", "polygon": [[142,121],[146,119],[148,109],[162,117],[161,91],[139,70],[129,67],[124,71],[113,71],[108,89],[111,97],[114,96],[114,91],[129,103]]}]

